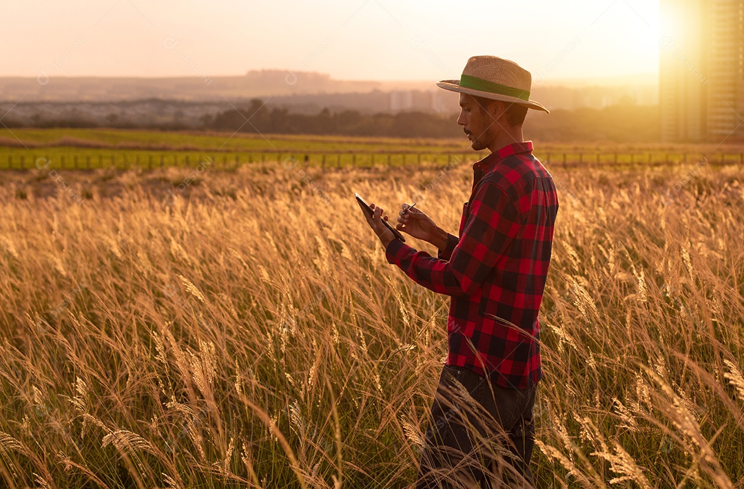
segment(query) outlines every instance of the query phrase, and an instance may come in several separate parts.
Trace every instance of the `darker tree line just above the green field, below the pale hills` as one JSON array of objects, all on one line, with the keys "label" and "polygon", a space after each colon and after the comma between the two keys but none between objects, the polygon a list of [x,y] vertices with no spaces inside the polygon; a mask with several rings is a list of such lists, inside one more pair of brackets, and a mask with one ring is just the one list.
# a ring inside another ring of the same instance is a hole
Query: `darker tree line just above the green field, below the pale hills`
[{"label": "darker tree line just above the green field, below the pale hills", "polygon": [[[356,110],[331,112],[322,109],[315,115],[289,112],[283,107],[266,106],[262,100],[250,100],[245,106],[205,115],[196,128],[226,132],[263,134],[356,135],[399,138],[457,138],[463,135],[456,124],[457,115],[428,112],[379,112],[365,114]],[[31,124],[9,127],[121,127],[132,129],[193,130],[192,124],[151,124],[144,118],[141,124],[121,124],[107,118],[106,123],[85,118],[65,120],[35,120]],[[660,138],[658,106],[622,103],[604,109],[556,109],[549,115],[530,111],[525,121],[525,138],[551,142],[658,142]]]}]

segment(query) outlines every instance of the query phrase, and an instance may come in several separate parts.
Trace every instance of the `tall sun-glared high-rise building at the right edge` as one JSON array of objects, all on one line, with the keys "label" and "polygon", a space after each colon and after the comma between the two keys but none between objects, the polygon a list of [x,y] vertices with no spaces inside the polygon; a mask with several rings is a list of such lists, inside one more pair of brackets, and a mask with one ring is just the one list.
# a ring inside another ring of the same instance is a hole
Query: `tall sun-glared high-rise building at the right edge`
[{"label": "tall sun-glared high-rise building at the right edge", "polygon": [[744,0],[661,0],[662,141],[744,140]]}]

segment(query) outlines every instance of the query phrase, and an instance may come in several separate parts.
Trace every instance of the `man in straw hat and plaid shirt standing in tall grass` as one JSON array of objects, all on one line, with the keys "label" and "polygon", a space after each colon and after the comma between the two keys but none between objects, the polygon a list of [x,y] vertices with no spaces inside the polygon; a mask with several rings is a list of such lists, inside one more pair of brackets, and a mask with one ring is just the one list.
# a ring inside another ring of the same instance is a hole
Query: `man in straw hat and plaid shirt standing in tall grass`
[{"label": "man in straw hat and plaid shirt standing in tall grass", "polygon": [[437,85],[460,93],[458,124],[474,150],[491,152],[472,166],[458,236],[404,204],[397,229],[437,246],[434,258],[395,239],[382,224],[388,217],[381,208],[372,204],[368,218],[389,263],[452,296],[449,354],[417,487],[529,487],[533,405],[542,378],[537,316],[558,199],[532,142],[523,141],[522,124],[527,109],[548,109],[530,100],[530,73],[498,57],[472,57],[460,80]]}]

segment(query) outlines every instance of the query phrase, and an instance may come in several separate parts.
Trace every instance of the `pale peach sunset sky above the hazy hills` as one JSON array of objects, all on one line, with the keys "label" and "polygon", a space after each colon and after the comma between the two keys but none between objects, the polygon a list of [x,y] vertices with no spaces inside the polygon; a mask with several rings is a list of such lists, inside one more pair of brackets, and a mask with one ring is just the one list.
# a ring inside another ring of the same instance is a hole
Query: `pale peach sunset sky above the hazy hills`
[{"label": "pale peach sunset sky above the hazy hills", "polygon": [[658,2],[67,0],[4,2],[0,77],[459,77],[469,56],[550,82],[658,73]]}]

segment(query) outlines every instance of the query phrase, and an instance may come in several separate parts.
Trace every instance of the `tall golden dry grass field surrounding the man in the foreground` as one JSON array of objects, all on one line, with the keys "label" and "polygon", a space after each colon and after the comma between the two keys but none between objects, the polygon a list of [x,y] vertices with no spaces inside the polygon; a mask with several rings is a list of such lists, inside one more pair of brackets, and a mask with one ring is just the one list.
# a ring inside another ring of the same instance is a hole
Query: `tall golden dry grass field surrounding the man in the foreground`
[{"label": "tall golden dry grass field surrounding the man in the foreground", "polygon": [[[548,170],[538,487],[742,487],[744,169]],[[353,194],[455,231],[471,181],[5,173],[0,487],[406,487],[449,300]]]}]

